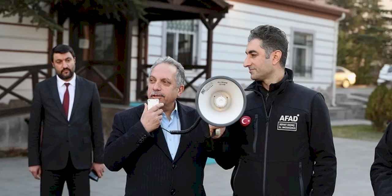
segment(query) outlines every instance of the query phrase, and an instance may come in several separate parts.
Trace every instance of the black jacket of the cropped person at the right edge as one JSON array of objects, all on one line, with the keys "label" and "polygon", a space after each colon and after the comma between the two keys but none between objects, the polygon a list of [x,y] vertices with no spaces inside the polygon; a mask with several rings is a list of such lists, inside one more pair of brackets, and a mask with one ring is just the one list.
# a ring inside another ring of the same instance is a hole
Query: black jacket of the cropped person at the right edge
[{"label": "black jacket of the cropped person at the right edge", "polygon": [[375,196],[392,196],[392,123],[376,146],[370,180]]}]

